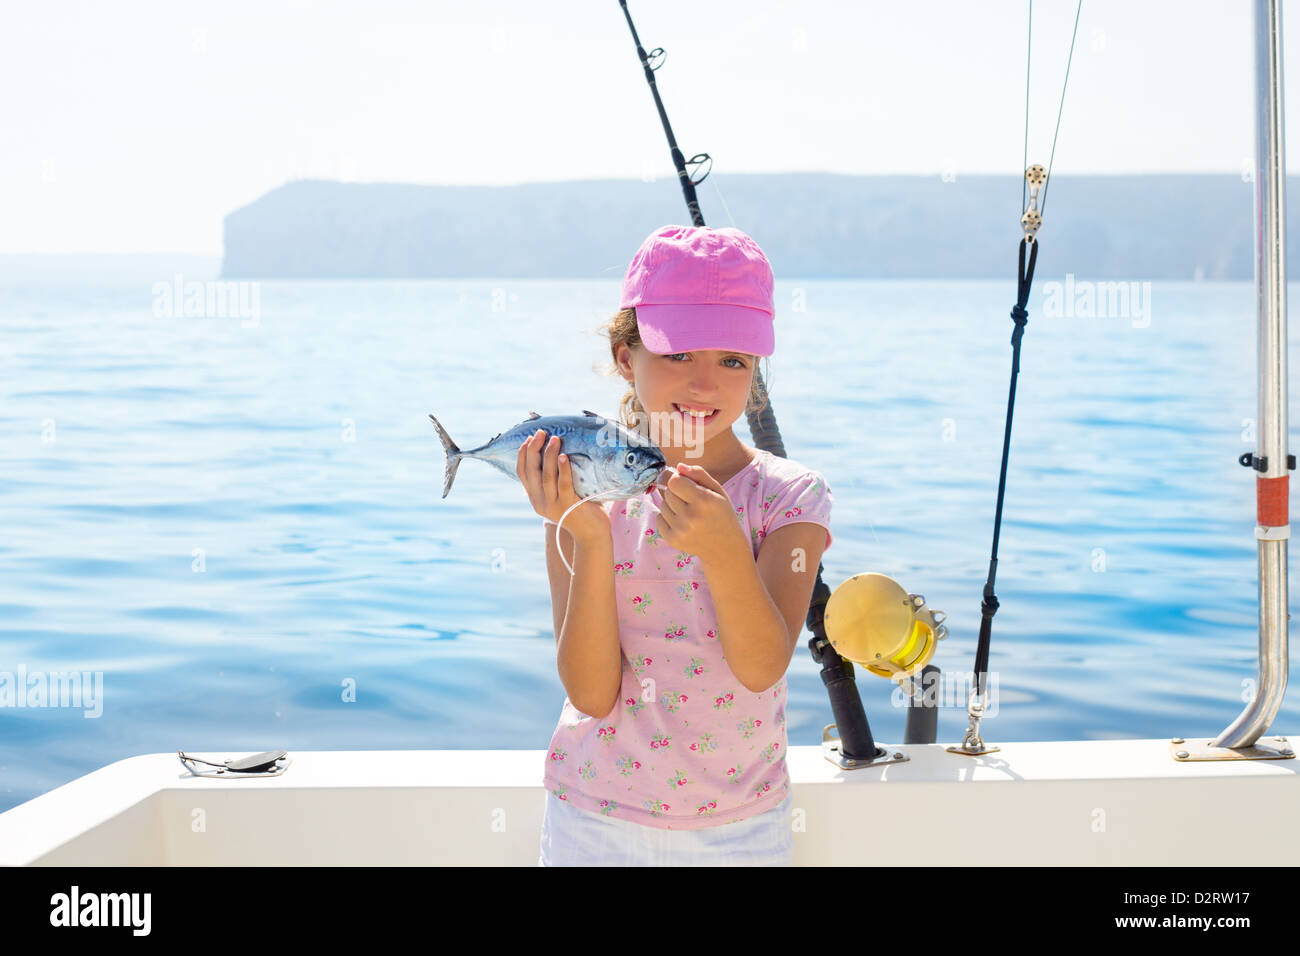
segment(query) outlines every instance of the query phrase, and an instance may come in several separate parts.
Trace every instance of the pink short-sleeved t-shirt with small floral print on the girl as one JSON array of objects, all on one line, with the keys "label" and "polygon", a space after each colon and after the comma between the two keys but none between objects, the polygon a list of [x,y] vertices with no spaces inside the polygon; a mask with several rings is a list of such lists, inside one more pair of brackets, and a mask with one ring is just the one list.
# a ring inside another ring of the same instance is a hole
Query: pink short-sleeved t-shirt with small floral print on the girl
[{"label": "pink short-sleeved t-shirt with small floral print on the girl", "polygon": [[[723,484],[755,559],[767,535],[796,522],[823,525],[829,548],[832,496],[822,475],[755,451]],[[694,830],[763,813],[789,792],[785,678],[754,693],[732,674],[699,562],[658,533],[662,501],[655,488],[603,503],[614,536],[623,685],[619,704],[601,719],[566,697],[545,780],[584,810]]]}]

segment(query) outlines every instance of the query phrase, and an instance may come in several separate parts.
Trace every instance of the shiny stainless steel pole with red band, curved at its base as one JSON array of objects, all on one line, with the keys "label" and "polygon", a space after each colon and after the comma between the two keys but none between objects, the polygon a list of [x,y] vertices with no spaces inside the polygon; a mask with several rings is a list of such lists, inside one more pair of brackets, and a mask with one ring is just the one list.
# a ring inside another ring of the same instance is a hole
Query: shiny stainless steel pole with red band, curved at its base
[{"label": "shiny stainless steel pole with red band, curved at its base", "polygon": [[[1254,284],[1260,415],[1256,528],[1260,550],[1260,675],[1254,698],[1213,747],[1251,747],[1287,689],[1287,217],[1282,122],[1282,4],[1254,0]],[[1262,466],[1262,467],[1261,467]]]}]

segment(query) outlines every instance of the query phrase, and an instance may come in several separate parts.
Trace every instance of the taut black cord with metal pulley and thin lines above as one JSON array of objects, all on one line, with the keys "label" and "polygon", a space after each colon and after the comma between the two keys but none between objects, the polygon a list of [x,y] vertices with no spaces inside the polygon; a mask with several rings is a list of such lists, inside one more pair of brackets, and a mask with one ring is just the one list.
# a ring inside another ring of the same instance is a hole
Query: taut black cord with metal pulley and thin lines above
[{"label": "taut black cord with metal pulley and thin lines above", "polygon": [[[997,479],[997,510],[993,515],[993,548],[988,561],[988,579],[984,581],[984,597],[980,601],[979,643],[975,648],[975,671],[971,675],[971,693],[967,702],[967,717],[970,726],[959,747],[949,747],[950,753],[980,754],[992,753],[1000,748],[984,743],[979,732],[979,722],[984,717],[985,676],[988,674],[988,646],[993,632],[993,615],[997,614],[998,600],[993,589],[993,580],[997,578],[997,541],[1002,529],[1002,498],[1006,493],[1006,460],[1011,449],[1011,418],[1015,415],[1015,378],[1020,372],[1020,339],[1024,337],[1024,326],[1030,321],[1030,313],[1024,308],[1030,300],[1030,286],[1034,284],[1034,265],[1039,258],[1037,232],[1043,226],[1043,211],[1046,208],[1048,179],[1052,176],[1052,163],[1056,160],[1057,137],[1061,134],[1061,114],[1065,109],[1065,91],[1070,85],[1070,64],[1074,61],[1074,42],[1079,35],[1079,13],[1083,10],[1083,0],[1079,0],[1074,12],[1074,34],[1070,38],[1070,56],[1065,65],[1065,83],[1061,87],[1061,104],[1057,107],[1057,125],[1052,134],[1052,153],[1048,157],[1048,168],[1041,165],[1027,165],[1030,159],[1030,51],[1034,40],[1034,0],[1030,0],[1030,39],[1026,43],[1024,53],[1024,182],[1020,186],[1020,226],[1024,237],[1020,239],[1019,265],[1015,272],[1015,304],[1011,306],[1011,321],[1015,328],[1011,330],[1011,384],[1006,395],[1006,428],[1002,432],[1002,468]],[[1024,194],[1028,190],[1028,204]],[[1039,193],[1043,193],[1041,203]],[[1026,264],[1026,250],[1028,250],[1028,264]]]}]

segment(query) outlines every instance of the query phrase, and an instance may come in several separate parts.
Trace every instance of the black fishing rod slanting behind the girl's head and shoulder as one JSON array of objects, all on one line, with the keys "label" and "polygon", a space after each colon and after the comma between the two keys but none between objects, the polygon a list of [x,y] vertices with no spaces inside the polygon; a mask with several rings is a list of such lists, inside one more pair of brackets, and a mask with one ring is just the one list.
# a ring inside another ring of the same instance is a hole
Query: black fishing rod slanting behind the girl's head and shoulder
[{"label": "black fishing rod slanting behind the girl's head and shoulder", "polygon": [[[681,179],[681,191],[686,196],[686,209],[690,212],[692,224],[702,226],[705,225],[705,217],[699,212],[696,186],[708,176],[708,170],[712,169],[712,159],[706,152],[696,153],[689,161],[682,159],[681,150],[677,148],[677,140],[672,135],[668,113],[659,96],[659,87],[654,81],[655,70],[663,66],[664,49],[663,47],[655,47],[646,53],[645,47],[641,46],[641,38],[637,36],[637,27],[632,22],[632,14],[628,12],[627,0],[619,0],[619,7],[623,8],[623,16],[627,17],[628,29],[632,31],[632,40],[637,47],[637,57],[641,60],[641,66],[645,70],[646,82],[650,85],[655,108],[659,111],[659,120],[663,122],[663,131],[668,137],[668,148],[672,152],[672,163],[677,168],[677,178]],[[707,164],[705,174],[698,179],[692,179],[686,173],[688,163],[690,165]],[[762,407],[758,411],[746,411],[746,420],[749,421],[749,431],[754,437],[754,445],[779,458],[786,458],[785,444],[781,441],[781,432],[776,427],[776,414],[768,399],[763,375],[757,368],[754,369],[754,375],[758,392],[763,398]],[[871,736],[871,726],[867,723],[867,714],[862,708],[862,696],[857,689],[853,663],[840,657],[826,635],[826,605],[831,598],[831,588],[822,580],[822,571],[823,564],[818,562],[816,583],[812,585],[812,597],[809,601],[809,613],[805,623],[809,631],[812,632],[812,637],[809,640],[809,650],[812,654],[812,659],[822,665],[822,683],[831,697],[831,711],[835,715],[835,726],[840,735],[840,741],[836,747],[838,754],[837,762],[845,769],[852,769],[867,766],[874,761],[890,761],[889,750],[878,747],[875,739]],[[909,717],[911,711],[909,711]],[[933,736],[927,743],[932,741]],[[823,743],[826,743],[826,731],[823,731]]]}]

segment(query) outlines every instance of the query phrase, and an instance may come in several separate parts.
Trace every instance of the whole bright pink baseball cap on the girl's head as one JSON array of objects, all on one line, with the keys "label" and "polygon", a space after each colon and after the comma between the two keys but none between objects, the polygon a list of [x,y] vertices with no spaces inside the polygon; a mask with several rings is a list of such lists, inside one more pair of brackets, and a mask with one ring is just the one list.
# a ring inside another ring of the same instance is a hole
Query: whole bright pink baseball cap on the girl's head
[{"label": "whole bright pink baseball cap on the girl's head", "polygon": [[725,349],[771,355],[772,267],[740,229],[660,226],[628,265],[619,308],[637,310],[637,329],[658,355]]}]

